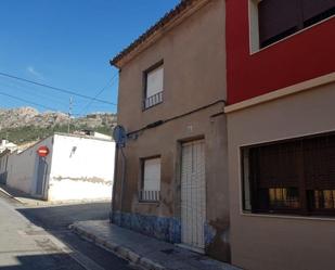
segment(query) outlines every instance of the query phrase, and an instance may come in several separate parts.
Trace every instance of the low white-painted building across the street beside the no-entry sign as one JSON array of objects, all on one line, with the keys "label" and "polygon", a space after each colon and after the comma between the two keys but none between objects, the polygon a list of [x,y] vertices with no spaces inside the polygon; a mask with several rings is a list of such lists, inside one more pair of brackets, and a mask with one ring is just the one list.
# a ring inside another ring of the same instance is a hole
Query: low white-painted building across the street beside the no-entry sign
[{"label": "low white-painted building across the street beside the no-entry sign", "polygon": [[[46,157],[38,155],[47,146]],[[92,136],[55,133],[9,155],[9,187],[48,201],[112,197],[115,143]]]}]

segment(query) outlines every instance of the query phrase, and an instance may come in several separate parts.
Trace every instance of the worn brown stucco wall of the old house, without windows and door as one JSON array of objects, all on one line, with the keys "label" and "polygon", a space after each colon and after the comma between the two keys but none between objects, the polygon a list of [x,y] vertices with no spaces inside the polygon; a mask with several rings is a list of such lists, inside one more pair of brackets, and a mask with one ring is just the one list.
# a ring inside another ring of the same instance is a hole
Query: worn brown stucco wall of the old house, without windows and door
[{"label": "worn brown stucco wall of the old house, without windows and door", "polygon": [[[168,30],[160,29],[162,37],[156,42],[120,67],[118,124],[127,132],[133,132],[150,124],[169,120],[134,132],[128,140],[124,149],[124,193],[123,160],[119,155],[114,211],[120,215],[118,220],[124,220],[124,226],[155,236],[159,228],[152,232],[151,228],[155,224],[150,223],[156,222],[156,219],[151,217],[162,218],[160,223],[166,220],[172,222],[173,228],[177,227],[171,232],[175,236],[162,239],[178,242],[181,218],[181,144],[203,139],[206,181],[205,250],[228,261],[230,246],[227,123],[223,114],[224,21],[224,1],[207,1],[178,25]],[[143,72],[159,61],[164,62],[163,103],[143,111]],[[160,200],[157,203],[143,203],[138,196],[142,176],[140,160],[151,156],[160,156],[162,159]],[[137,220],[133,220],[134,216]],[[134,226],[134,222],[145,223],[145,228]]]}]

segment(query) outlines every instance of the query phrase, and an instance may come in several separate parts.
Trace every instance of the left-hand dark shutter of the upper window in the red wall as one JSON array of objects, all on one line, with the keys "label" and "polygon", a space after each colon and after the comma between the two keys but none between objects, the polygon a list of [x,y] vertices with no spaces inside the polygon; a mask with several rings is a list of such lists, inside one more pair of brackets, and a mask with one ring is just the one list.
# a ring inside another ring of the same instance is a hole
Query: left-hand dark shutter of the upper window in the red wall
[{"label": "left-hand dark shutter of the upper window in the red wall", "polygon": [[262,0],[259,2],[258,18],[260,44],[263,44],[267,40],[273,39],[279,35],[284,35],[298,26],[298,1],[299,0]]}]

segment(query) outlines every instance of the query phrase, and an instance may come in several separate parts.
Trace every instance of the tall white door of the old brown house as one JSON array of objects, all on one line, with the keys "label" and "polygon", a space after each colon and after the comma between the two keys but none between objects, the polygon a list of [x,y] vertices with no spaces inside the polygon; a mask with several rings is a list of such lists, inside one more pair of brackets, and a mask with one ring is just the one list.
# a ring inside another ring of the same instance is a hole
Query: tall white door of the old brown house
[{"label": "tall white door of the old brown house", "polygon": [[181,240],[196,249],[205,248],[206,220],[205,143],[182,145],[181,160]]}]

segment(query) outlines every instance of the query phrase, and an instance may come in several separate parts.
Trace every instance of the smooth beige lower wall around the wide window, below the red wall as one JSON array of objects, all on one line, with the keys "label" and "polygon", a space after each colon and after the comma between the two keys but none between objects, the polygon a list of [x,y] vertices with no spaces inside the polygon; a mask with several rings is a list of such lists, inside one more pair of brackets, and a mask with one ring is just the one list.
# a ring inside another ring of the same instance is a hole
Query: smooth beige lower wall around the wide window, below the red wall
[{"label": "smooth beige lower wall around the wide window, below the red wall", "polygon": [[334,269],[334,218],[253,215],[242,209],[241,146],[335,131],[335,82],[321,82],[227,115],[234,265],[249,270]]}]

